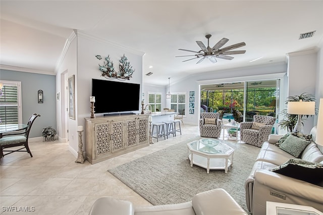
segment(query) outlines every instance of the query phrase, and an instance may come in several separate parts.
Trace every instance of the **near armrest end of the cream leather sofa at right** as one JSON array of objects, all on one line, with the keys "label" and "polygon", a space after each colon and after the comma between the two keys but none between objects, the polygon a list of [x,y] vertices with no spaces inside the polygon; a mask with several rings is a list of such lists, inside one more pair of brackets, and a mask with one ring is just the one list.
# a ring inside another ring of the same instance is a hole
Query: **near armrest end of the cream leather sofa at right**
[{"label": "near armrest end of the cream leather sofa at right", "polygon": [[266,201],[312,206],[323,211],[323,187],[268,170],[254,174],[252,213],[265,214]]}]

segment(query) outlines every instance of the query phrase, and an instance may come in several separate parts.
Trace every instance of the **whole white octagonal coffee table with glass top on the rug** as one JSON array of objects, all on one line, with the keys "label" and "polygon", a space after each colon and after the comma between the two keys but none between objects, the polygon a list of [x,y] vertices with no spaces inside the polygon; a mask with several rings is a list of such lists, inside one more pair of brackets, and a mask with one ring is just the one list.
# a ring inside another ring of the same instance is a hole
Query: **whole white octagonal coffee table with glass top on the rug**
[{"label": "whole white octagonal coffee table with glass top on the rug", "polygon": [[216,139],[203,138],[187,143],[188,158],[193,164],[209,170],[224,170],[233,165],[234,149]]}]

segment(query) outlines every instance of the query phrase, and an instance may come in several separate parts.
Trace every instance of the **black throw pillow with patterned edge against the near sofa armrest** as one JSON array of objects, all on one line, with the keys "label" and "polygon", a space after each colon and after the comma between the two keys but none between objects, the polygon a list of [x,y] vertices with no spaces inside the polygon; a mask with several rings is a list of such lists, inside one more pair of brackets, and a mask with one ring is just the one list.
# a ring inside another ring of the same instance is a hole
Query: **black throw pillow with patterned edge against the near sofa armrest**
[{"label": "black throw pillow with patterned edge against the near sofa armrest", "polygon": [[320,185],[323,182],[323,164],[303,159],[289,159],[271,171],[312,184]]}]

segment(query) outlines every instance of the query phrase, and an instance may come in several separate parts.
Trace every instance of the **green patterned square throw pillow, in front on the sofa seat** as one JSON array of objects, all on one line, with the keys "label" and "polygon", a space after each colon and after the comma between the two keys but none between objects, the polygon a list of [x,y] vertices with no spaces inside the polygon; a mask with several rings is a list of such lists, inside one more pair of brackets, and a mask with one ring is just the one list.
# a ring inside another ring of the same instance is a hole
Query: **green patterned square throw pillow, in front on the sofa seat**
[{"label": "green patterned square throw pillow, in front on the sofa seat", "polygon": [[303,140],[302,138],[295,137],[294,135],[289,135],[286,140],[279,145],[279,147],[294,157],[299,158],[309,143],[310,141]]}]

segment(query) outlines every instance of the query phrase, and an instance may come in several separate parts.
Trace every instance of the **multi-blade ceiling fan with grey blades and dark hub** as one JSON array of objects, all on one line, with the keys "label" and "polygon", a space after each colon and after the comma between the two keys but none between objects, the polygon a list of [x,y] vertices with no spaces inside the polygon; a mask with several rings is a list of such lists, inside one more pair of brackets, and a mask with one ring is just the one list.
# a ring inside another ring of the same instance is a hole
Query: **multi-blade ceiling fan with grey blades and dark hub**
[{"label": "multi-blade ceiling fan with grey blades and dark hub", "polygon": [[178,49],[178,50],[182,50],[182,51],[194,52],[194,53],[196,53],[195,55],[185,55],[185,56],[175,56],[175,57],[195,56],[195,58],[185,60],[183,62],[194,60],[194,59],[197,59],[197,58],[201,58],[198,62],[196,62],[196,64],[201,63],[206,58],[212,63],[217,63],[216,58],[221,58],[221,59],[225,59],[225,60],[232,60],[234,58],[231,57],[231,56],[228,56],[228,55],[237,55],[237,54],[242,54],[242,53],[246,52],[246,50],[230,51],[231,49],[235,49],[235,48],[245,46],[246,45],[245,42],[239,42],[237,44],[229,45],[227,47],[221,48],[222,46],[224,46],[229,41],[229,39],[227,39],[227,38],[222,38],[217,44],[215,44],[211,48],[209,46],[209,38],[211,36],[212,36],[211,34],[206,34],[205,35],[205,37],[207,39],[207,47],[203,44],[203,42],[196,41],[198,46],[201,48],[201,50],[199,50],[199,51],[187,50],[187,49],[182,49],[182,48]]}]

